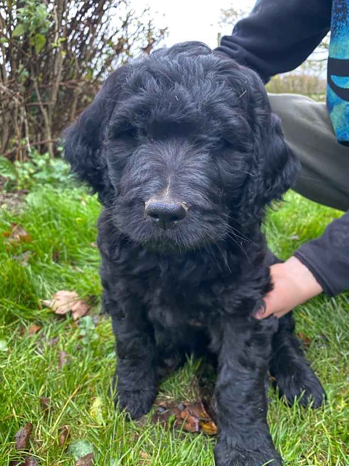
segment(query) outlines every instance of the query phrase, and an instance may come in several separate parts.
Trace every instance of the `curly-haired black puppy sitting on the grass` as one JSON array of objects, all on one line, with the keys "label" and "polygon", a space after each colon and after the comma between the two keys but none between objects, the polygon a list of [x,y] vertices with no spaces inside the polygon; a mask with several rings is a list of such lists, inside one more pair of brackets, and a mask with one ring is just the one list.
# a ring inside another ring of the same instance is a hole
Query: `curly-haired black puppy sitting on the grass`
[{"label": "curly-haired black puppy sitting on the grass", "polygon": [[[218,466],[282,464],[267,425],[268,366],[289,402],[323,389],[291,316],[257,320],[270,291],[261,222],[298,162],[263,84],[201,43],[119,68],[65,133],[98,192],[103,304],[120,410],[138,418],[186,351],[217,356]],[[278,330],[279,325],[279,330]]]}]

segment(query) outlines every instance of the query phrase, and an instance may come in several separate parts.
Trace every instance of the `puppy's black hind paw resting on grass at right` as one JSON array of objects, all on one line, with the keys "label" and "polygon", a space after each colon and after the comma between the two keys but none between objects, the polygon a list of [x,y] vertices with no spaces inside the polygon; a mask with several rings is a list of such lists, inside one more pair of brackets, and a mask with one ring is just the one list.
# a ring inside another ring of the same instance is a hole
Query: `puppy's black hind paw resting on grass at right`
[{"label": "puppy's black hind paw resting on grass at right", "polygon": [[280,397],[285,397],[290,405],[297,399],[303,406],[312,403],[312,408],[318,408],[326,401],[325,390],[313,369],[305,362],[292,365],[291,370],[279,369],[275,379]]}]

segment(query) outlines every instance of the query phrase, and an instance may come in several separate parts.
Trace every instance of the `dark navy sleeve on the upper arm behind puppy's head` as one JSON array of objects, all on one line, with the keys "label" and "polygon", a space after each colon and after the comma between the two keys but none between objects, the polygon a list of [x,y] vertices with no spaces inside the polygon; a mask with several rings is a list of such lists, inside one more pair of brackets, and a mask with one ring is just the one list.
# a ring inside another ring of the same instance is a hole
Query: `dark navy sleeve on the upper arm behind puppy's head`
[{"label": "dark navy sleeve on the upper arm behind puppy's head", "polygon": [[298,67],[330,30],[332,0],[259,0],[216,49],[267,82]]}]

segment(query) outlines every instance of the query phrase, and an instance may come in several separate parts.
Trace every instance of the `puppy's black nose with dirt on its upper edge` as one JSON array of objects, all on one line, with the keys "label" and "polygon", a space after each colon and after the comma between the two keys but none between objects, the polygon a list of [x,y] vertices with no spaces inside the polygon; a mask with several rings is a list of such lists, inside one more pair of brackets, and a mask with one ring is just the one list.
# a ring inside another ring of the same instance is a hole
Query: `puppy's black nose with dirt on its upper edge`
[{"label": "puppy's black nose with dirt on its upper edge", "polygon": [[145,215],[149,216],[158,228],[174,228],[175,224],[187,215],[184,202],[151,199],[145,202]]}]

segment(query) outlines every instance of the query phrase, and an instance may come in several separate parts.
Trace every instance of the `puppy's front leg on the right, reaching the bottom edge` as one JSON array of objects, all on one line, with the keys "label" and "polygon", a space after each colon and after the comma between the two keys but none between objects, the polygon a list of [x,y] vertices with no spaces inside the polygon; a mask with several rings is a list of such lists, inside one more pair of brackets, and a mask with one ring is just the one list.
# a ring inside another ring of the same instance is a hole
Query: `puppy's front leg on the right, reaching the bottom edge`
[{"label": "puppy's front leg on the right, reaching the bottom edge", "polygon": [[218,352],[216,466],[282,466],[267,424],[265,386],[276,320],[225,316],[212,335]]}]

